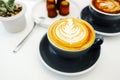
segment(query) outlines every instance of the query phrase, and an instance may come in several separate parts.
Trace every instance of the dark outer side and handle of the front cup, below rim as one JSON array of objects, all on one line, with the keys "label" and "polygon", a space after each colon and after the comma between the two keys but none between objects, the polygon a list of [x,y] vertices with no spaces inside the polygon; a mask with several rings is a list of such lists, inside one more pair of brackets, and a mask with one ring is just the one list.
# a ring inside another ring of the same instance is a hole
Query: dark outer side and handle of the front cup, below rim
[{"label": "dark outer side and handle of the front cup, below rim", "polygon": [[88,47],[87,49],[81,50],[81,51],[66,51],[66,50],[62,50],[58,47],[56,47],[55,45],[53,45],[50,42],[50,47],[55,51],[56,55],[63,57],[63,58],[67,58],[67,59],[75,59],[75,58],[81,58],[87,53],[90,49],[95,48],[100,46],[103,43],[103,37],[102,36],[96,36],[95,42],[93,43],[92,46]]}]

